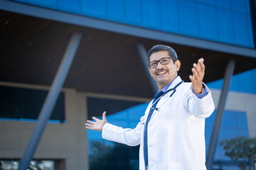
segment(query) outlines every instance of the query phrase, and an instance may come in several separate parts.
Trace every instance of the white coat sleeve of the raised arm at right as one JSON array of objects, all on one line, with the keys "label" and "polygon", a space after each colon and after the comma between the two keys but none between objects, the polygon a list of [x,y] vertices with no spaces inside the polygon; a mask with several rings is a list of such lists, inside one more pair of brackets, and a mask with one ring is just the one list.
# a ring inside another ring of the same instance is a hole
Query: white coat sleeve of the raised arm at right
[{"label": "white coat sleeve of the raised arm at right", "polygon": [[203,98],[198,98],[191,88],[188,94],[186,94],[188,111],[195,115],[196,118],[208,118],[215,109],[210,89],[208,89],[206,84],[204,86],[208,94]]}]

